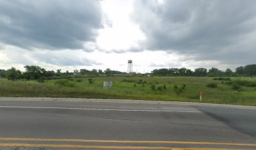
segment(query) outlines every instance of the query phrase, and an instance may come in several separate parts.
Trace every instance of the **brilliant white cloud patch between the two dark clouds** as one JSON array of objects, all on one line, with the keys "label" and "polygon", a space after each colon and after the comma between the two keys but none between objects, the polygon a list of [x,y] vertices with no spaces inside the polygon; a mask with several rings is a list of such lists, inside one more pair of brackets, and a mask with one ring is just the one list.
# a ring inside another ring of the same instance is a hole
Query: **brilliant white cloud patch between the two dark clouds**
[{"label": "brilliant white cloud patch between the two dark clouds", "polygon": [[133,1],[102,1],[102,10],[111,20],[112,26],[100,29],[97,45],[103,51],[129,51],[139,47],[137,41],[144,39],[139,26],[130,20]]}]

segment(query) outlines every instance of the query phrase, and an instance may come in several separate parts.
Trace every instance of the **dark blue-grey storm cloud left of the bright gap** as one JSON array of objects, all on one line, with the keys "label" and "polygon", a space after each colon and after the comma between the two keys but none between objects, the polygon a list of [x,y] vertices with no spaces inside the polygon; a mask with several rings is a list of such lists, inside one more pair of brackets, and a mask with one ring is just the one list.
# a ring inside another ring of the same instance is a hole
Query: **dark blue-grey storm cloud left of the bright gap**
[{"label": "dark blue-grey storm cloud left of the bright gap", "polygon": [[95,41],[102,27],[100,1],[0,1],[0,42],[4,44],[83,49],[83,43]]}]

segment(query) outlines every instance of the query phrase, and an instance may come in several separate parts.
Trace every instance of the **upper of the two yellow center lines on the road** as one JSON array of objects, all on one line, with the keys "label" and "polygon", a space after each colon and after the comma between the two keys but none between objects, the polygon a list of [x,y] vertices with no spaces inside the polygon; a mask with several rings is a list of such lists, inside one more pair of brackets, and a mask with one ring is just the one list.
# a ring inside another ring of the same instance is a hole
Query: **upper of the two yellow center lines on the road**
[{"label": "upper of the two yellow center lines on the road", "polygon": [[0,141],[45,141],[45,142],[82,142],[82,143],[152,143],[152,144],[201,144],[227,146],[256,146],[249,143],[211,143],[188,141],[117,141],[117,140],[88,140],[88,139],[35,139],[35,138],[0,138]]}]

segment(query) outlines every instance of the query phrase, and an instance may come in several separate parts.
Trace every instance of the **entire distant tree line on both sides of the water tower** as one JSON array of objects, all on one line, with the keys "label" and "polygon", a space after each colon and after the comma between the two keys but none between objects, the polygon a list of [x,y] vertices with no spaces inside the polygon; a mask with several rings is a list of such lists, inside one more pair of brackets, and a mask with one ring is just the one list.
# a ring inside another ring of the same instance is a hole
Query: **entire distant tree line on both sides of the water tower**
[{"label": "entire distant tree line on both sides of the water tower", "polygon": [[[40,66],[24,66],[26,69],[24,72],[19,71],[16,68],[8,70],[0,69],[0,78],[7,78],[10,80],[26,79],[26,80],[45,80],[45,79],[60,79],[60,78],[72,78],[73,76],[112,76],[113,74],[127,74],[120,71],[112,71],[107,68],[105,71],[101,69],[75,69],[72,73],[66,71],[61,73],[61,69],[56,71],[46,71],[46,69]],[[136,74],[136,73],[134,73]],[[152,76],[256,76],[256,64],[249,64],[247,66],[240,66],[233,72],[231,69],[221,71],[218,68],[196,68],[195,71],[186,68],[162,68],[154,69],[151,71]]]}]

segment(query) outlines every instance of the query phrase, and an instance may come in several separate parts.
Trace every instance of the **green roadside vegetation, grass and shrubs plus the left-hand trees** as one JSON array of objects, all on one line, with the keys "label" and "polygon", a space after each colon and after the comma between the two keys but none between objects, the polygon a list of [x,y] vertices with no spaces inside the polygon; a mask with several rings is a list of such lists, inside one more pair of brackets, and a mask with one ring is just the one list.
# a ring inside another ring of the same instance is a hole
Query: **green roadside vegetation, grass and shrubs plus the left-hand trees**
[{"label": "green roadside vegetation, grass and shrubs plus the left-hand trees", "polygon": [[[45,71],[25,66],[5,71],[0,78],[1,97],[112,98],[240,104],[256,106],[256,78],[253,76],[156,76],[151,73],[127,76],[118,71]],[[97,74],[96,74],[97,73]],[[233,73],[235,74],[235,73]],[[104,89],[104,81],[113,88]]]}]

